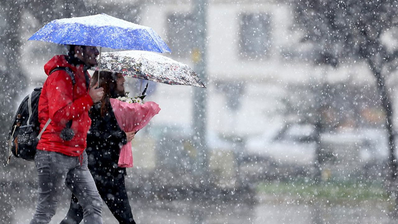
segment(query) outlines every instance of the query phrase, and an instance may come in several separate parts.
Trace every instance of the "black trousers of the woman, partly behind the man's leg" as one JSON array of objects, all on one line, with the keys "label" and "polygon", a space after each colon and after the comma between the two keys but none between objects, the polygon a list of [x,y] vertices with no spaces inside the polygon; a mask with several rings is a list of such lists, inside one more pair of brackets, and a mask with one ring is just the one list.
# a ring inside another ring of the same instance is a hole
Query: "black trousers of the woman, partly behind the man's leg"
[{"label": "black trousers of the woman, partly behind the man's leg", "polygon": [[[117,177],[99,176],[94,173],[92,173],[92,175],[102,200],[108,206],[117,221],[119,221],[120,224],[135,224],[129,198],[127,198],[124,175],[119,174]],[[61,224],[78,224],[82,219],[83,208],[78,203],[77,198],[72,195],[68,214],[66,214]]]}]

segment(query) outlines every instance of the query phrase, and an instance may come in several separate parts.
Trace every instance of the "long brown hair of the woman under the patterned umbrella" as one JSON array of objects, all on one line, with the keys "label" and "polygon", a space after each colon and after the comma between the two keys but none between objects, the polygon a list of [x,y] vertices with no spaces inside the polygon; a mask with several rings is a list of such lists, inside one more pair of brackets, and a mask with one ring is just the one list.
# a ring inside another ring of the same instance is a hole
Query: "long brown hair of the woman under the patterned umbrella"
[{"label": "long brown hair of the woman under the patterned umbrella", "polygon": [[[95,71],[91,77],[90,88],[98,82],[98,71]],[[101,116],[105,116],[111,104],[109,98],[117,98],[119,96],[126,96],[125,92],[117,91],[117,73],[101,71],[100,86],[103,88],[103,97],[101,99]]]}]

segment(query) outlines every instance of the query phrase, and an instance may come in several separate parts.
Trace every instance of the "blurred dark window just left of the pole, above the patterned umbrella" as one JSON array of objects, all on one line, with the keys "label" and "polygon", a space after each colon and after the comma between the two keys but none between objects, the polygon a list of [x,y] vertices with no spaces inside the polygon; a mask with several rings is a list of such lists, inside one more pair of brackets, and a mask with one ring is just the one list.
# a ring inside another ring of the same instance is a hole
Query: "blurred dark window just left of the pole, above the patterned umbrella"
[{"label": "blurred dark window just left of the pole, above the patterned umbrella", "polygon": [[195,46],[193,16],[188,13],[174,13],[167,17],[168,45],[173,55],[189,57]]}]

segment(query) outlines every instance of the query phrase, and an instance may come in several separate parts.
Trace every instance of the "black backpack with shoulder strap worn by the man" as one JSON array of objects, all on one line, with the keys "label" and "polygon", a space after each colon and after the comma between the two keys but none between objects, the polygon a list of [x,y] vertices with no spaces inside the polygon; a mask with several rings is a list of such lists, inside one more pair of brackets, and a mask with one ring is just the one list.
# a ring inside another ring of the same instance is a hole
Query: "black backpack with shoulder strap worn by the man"
[{"label": "black backpack with shoulder strap worn by the man", "polygon": [[[74,75],[68,67],[55,68],[51,73],[58,70],[66,71],[72,79],[72,84],[75,84]],[[43,130],[39,132],[40,123],[38,108],[42,88],[43,87],[35,88],[33,92],[25,96],[18,107],[10,131],[8,132],[9,155],[7,163],[10,162],[11,153],[17,158],[34,161],[37,143],[39,143],[41,134],[43,134],[44,130],[51,122],[51,119],[49,119],[43,127]]]}]

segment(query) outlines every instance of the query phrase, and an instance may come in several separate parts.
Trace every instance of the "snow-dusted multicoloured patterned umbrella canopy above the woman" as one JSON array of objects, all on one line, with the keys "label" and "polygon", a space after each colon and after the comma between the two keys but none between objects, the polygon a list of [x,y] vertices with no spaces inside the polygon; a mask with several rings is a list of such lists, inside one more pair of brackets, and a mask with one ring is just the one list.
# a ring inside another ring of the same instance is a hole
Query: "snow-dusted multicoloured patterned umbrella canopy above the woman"
[{"label": "snow-dusted multicoloured patterned umbrella canopy above the woman", "polygon": [[189,85],[206,88],[196,73],[183,63],[148,51],[105,52],[100,68],[138,79],[170,85]]}]

